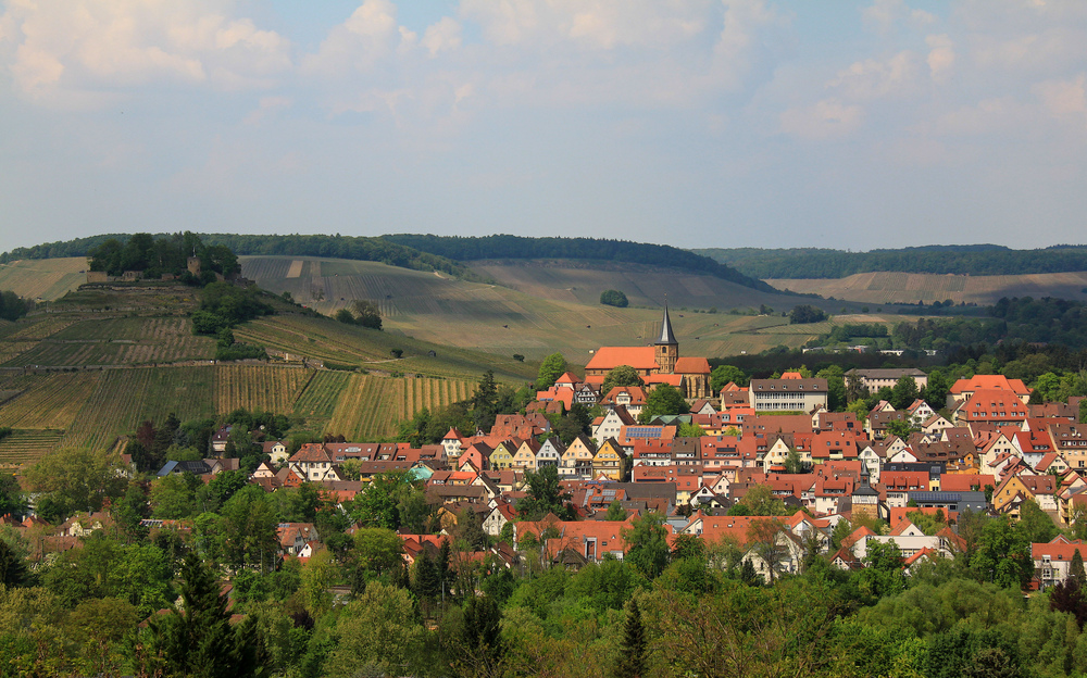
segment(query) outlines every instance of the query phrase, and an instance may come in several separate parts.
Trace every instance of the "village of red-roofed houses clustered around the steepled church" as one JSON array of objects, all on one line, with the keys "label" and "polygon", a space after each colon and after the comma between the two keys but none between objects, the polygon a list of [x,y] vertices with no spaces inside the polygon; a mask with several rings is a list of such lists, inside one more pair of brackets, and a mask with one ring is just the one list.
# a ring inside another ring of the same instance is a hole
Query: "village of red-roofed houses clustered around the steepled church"
[{"label": "village of red-roofed houses clustered around the steepled church", "polygon": [[[967,512],[1017,520],[1029,504],[1065,533],[1084,523],[1082,398],[1030,404],[1030,389],[1021,380],[976,375],[951,387],[944,410],[949,416],[919,398],[904,410],[882,400],[859,418],[827,410],[826,379],[786,372],[745,387],[729,382],[712,398],[688,398],[689,414],[639,420],[655,384],[710,395],[709,365],[678,357],[667,311],[661,332],[653,347],[601,349],[586,378],[562,374],[523,413],[498,415],[486,434],[452,428],[440,443],[420,448],[304,443],[292,454],[286,441],[270,440],[262,443],[266,461],[249,482],[268,493],[308,485],[345,512],[375,478],[422,484],[436,533],[400,533],[408,565],[424,551],[436,556],[450,533],[465,528],[459,523],[471,520],[490,539],[486,549],[467,554],[470,561],[576,570],[623,560],[634,523],[651,514],[660,517],[670,548],[690,538],[732,544],[766,582],[802,573],[813,551],[835,567],[857,570],[865,567],[873,544],[891,543],[908,575],[965,549],[958,524]],[[646,385],[601,393],[605,375],[621,361],[634,363]],[[686,371],[677,373],[677,365]],[[871,392],[903,379],[923,388],[926,379],[911,368],[855,369],[849,377]],[[547,415],[575,404],[599,405],[602,415],[592,420],[591,435],[563,444]],[[679,435],[690,427],[701,435]],[[239,460],[225,455],[230,432],[228,426],[215,432],[209,459],[170,461],[158,477],[190,474],[208,482],[237,472]],[[525,519],[518,504],[530,480],[549,475],[571,514]],[[767,502],[776,508],[767,512]],[[774,520],[770,544],[753,527],[767,517]],[[40,540],[41,548],[76,548],[79,537],[110,520],[105,513],[76,515]],[[36,522],[29,517],[14,527]],[[191,530],[185,520],[148,518],[143,525]],[[312,523],[279,524],[277,538],[280,557],[303,563],[325,548]],[[1030,588],[1062,581],[1085,547],[1064,533],[1034,543]]]}]

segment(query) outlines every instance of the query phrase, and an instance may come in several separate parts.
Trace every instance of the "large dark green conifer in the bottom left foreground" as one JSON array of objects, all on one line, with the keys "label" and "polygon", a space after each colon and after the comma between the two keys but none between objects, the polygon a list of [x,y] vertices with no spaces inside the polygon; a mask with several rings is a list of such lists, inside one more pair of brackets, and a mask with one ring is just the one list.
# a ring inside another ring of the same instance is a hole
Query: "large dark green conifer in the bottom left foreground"
[{"label": "large dark green conifer in the bottom left foreground", "polygon": [[190,553],[183,567],[182,610],[149,619],[148,655],[161,653],[167,673],[230,678],[257,671],[252,620],[230,627],[218,579]]}]

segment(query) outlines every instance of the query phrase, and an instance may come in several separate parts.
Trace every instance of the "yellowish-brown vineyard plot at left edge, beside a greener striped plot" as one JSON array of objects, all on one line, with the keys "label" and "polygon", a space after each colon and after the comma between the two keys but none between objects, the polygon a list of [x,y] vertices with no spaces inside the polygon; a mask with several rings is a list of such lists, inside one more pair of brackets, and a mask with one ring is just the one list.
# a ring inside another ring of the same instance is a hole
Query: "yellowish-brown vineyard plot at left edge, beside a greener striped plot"
[{"label": "yellowish-brown vineyard plot at left edge, beside a greener striped plot", "polygon": [[49,375],[0,407],[0,426],[68,428],[101,378],[100,372]]}]

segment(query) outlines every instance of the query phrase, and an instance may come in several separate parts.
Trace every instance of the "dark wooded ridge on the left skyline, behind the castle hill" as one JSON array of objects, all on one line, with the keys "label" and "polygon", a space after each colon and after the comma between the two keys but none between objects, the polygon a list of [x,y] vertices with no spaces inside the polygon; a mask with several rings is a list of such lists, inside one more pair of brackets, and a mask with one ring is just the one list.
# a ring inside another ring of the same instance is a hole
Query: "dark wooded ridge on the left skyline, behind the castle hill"
[{"label": "dark wooded ridge on the left skyline, behind the castle hill", "polygon": [[[160,234],[162,236],[164,234]],[[234,234],[198,234],[207,246],[226,246],[235,254],[328,256],[375,261],[390,266],[415,271],[441,271],[462,278],[474,278],[474,274],[463,265],[443,256],[421,252],[384,238],[357,236],[255,236]],[[55,259],[62,256],[86,256],[91,250],[109,239],[127,242],[129,234],[109,234],[90,238],[76,238],[63,242],[47,242],[29,248],[17,248],[0,254],[0,263],[22,259]]]}]

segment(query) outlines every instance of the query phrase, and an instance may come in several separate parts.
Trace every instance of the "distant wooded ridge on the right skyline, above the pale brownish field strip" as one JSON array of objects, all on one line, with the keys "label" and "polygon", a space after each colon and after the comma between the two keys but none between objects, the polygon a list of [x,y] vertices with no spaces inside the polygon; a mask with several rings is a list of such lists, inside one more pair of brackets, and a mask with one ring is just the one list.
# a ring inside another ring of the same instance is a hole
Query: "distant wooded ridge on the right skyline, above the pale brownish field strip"
[{"label": "distant wooded ridge on the right skyline, above the pale brownish field strip", "polygon": [[845,278],[894,271],[966,275],[1020,275],[1087,271],[1087,246],[1013,250],[999,244],[933,244],[900,250],[842,252],[827,249],[759,248],[694,250],[739,272],[765,278]]}]

